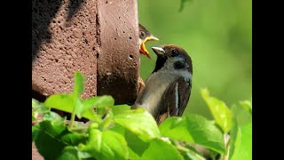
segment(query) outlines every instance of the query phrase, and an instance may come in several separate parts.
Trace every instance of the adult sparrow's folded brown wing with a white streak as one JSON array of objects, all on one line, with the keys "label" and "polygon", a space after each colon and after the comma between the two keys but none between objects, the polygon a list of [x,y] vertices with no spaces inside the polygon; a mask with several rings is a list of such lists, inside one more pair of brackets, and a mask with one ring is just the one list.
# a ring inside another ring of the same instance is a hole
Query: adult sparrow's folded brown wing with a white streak
[{"label": "adult sparrow's folded brown wing with a white streak", "polygon": [[169,116],[182,116],[191,93],[190,82],[183,77],[172,82],[162,95],[162,102],[155,117],[157,124],[161,124]]}]

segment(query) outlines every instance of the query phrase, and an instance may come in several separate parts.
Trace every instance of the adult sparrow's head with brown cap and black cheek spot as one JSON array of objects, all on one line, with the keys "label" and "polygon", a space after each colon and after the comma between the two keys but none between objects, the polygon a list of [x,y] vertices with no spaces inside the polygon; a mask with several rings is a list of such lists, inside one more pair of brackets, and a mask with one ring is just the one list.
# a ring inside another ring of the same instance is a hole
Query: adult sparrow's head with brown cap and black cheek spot
[{"label": "adult sparrow's head with brown cap and black cheek spot", "polygon": [[152,47],[152,50],[158,56],[153,73],[158,70],[187,70],[191,75],[193,74],[192,59],[187,52],[179,46],[166,44],[158,47]]}]

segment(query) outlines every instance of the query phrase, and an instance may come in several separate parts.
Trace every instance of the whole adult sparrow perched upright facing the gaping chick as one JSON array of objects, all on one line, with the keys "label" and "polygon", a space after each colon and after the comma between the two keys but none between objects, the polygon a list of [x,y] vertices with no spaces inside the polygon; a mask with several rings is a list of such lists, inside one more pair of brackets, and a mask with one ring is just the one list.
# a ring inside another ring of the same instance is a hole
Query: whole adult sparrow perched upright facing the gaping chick
[{"label": "whole adult sparrow perched upright facing the gaping chick", "polygon": [[132,108],[146,108],[161,124],[169,116],[182,116],[192,89],[193,64],[184,49],[173,44],[152,47],[156,65]]}]

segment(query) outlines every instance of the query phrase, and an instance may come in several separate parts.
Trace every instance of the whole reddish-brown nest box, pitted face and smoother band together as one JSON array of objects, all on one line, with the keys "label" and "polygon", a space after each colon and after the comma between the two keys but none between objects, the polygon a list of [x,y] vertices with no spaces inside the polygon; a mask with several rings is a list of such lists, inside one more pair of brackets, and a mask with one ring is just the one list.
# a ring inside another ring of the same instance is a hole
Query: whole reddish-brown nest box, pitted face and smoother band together
[{"label": "whole reddish-brown nest box, pitted face and smoother band together", "polygon": [[73,91],[85,76],[83,98],[112,95],[132,104],[138,95],[137,0],[32,2],[32,91],[44,100]]}]

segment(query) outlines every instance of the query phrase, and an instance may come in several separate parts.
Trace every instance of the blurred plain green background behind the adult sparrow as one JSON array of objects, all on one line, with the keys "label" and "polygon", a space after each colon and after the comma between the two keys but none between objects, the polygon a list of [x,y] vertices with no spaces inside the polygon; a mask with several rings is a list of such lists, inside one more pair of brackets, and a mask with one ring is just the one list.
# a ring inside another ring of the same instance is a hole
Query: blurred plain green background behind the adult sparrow
[{"label": "blurred plain green background behind the adult sparrow", "polygon": [[152,59],[141,57],[144,80],[154,70],[152,46],[177,44],[193,60],[193,90],[185,114],[212,118],[201,98],[207,87],[228,107],[250,100],[252,93],[251,0],[138,0],[139,23],[160,41],[146,44]]}]

